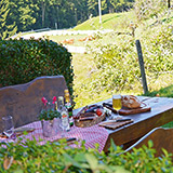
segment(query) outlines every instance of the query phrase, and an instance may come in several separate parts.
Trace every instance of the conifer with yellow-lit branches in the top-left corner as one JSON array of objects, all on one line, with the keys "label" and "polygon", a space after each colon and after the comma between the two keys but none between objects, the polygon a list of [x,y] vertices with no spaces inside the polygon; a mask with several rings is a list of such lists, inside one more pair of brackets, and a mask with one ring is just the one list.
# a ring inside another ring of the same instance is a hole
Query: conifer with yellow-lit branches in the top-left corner
[{"label": "conifer with yellow-lit branches in the top-left corner", "polygon": [[9,0],[0,1],[0,39],[4,40],[13,36],[17,31],[15,23],[8,25],[8,16],[10,14]]}]

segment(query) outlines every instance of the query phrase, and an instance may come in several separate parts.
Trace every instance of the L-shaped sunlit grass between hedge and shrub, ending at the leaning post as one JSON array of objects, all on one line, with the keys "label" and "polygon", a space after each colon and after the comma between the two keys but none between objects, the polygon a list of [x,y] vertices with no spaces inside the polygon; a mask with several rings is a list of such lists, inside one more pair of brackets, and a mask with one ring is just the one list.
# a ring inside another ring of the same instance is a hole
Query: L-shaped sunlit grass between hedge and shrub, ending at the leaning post
[{"label": "L-shaped sunlit grass between hedge and shrub, ending at the leaning post", "polygon": [[[90,89],[83,89],[84,85],[88,85],[89,78],[92,77],[92,72],[96,70],[94,67],[94,62],[91,57],[91,54],[77,54],[72,53],[72,66],[75,72],[75,80],[74,80],[74,90],[76,107],[79,108],[89,104],[94,104],[96,102],[101,102],[103,99],[110,98],[112,93],[103,91],[101,94],[91,93]],[[131,91],[121,91],[121,94],[134,94],[141,95],[143,92],[142,85],[134,86]]]}]

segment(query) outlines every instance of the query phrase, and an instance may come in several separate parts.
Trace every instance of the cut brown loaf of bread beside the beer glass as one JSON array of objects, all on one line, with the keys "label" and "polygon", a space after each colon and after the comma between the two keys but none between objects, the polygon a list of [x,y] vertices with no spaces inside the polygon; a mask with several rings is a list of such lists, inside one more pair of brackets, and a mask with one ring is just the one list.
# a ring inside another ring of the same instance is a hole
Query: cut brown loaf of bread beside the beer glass
[{"label": "cut brown loaf of bread beside the beer glass", "polygon": [[142,103],[134,95],[122,95],[121,96],[122,106],[127,108],[139,108]]}]

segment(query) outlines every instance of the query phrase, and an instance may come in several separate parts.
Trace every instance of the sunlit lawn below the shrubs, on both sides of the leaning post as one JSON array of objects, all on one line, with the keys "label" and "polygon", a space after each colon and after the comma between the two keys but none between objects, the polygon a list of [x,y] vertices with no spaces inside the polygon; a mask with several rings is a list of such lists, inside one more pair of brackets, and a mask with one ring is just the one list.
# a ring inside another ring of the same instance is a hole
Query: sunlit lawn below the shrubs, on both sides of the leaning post
[{"label": "sunlit lawn below the shrubs, on both sides of the leaning post", "polygon": [[[75,71],[75,81],[74,81],[74,89],[75,89],[75,102],[76,107],[79,108],[85,106],[88,104],[93,104],[106,98],[110,98],[112,93],[103,92],[102,94],[97,95],[93,93],[93,96],[90,96],[90,90],[82,89],[83,85],[86,86],[88,79],[91,78],[92,71],[94,68],[94,63],[92,56],[90,54],[78,54],[72,53],[72,66]],[[173,97],[173,75],[161,75],[155,82],[148,80],[148,89],[150,93],[149,96],[156,96],[159,94],[160,96],[165,97]],[[121,94],[134,94],[134,95],[142,95],[143,88],[136,86],[136,89],[132,91],[121,91]],[[164,128],[173,128],[173,122],[170,122]]]}]

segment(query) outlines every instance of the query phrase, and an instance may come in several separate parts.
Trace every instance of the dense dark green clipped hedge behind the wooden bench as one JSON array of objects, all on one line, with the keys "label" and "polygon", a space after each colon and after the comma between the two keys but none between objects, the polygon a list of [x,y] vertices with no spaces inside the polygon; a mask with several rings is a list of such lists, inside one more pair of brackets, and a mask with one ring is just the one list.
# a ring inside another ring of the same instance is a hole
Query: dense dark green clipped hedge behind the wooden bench
[{"label": "dense dark green clipped hedge behind the wooden bench", "polygon": [[40,76],[63,75],[72,94],[71,54],[49,39],[0,40],[0,84],[21,84]]}]

